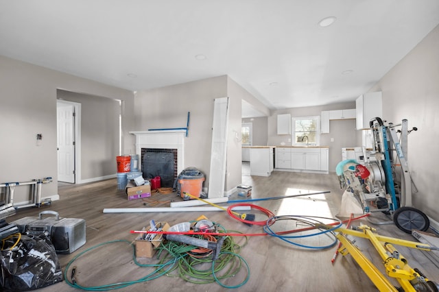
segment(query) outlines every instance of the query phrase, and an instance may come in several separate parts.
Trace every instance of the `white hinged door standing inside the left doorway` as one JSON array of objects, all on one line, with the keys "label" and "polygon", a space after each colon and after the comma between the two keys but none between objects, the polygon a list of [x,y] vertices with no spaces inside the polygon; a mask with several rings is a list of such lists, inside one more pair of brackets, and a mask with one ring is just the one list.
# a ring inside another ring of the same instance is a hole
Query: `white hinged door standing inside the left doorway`
[{"label": "white hinged door standing inside the left doorway", "polygon": [[75,182],[75,106],[58,101],[58,181]]}]

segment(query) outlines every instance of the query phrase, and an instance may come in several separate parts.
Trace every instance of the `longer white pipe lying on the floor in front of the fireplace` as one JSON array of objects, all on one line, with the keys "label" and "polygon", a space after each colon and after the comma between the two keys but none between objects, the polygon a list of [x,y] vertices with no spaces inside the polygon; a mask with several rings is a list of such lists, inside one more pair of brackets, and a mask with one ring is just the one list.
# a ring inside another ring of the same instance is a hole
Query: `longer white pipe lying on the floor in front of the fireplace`
[{"label": "longer white pipe lying on the floor in front of the fireplace", "polygon": [[[234,211],[248,211],[250,206],[236,206]],[[148,212],[209,212],[209,211],[224,211],[217,207],[182,207],[182,208],[105,208],[104,213],[148,213]]]}]

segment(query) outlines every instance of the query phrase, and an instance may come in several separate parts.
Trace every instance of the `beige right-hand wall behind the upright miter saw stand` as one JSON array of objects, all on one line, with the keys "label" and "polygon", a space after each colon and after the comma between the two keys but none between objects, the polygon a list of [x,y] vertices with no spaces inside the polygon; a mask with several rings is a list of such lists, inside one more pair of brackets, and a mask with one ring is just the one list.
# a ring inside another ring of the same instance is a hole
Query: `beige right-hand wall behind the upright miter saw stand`
[{"label": "beige right-hand wall behind the upright miter saw stand", "polygon": [[[370,91],[383,92],[383,119],[418,127],[408,136],[408,162],[418,188],[414,207],[439,221],[439,26]],[[436,226],[436,228],[438,228]]]}]

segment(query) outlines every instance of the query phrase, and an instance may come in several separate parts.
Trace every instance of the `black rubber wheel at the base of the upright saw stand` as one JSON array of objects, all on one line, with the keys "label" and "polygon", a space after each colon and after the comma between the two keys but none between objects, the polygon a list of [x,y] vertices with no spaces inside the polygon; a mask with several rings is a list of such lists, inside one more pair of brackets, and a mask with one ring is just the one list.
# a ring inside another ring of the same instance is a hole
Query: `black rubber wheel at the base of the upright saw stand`
[{"label": "black rubber wheel at the base of the upright saw stand", "polygon": [[393,221],[397,228],[405,233],[412,233],[412,229],[427,231],[430,221],[423,212],[412,207],[401,207],[393,214]]}]

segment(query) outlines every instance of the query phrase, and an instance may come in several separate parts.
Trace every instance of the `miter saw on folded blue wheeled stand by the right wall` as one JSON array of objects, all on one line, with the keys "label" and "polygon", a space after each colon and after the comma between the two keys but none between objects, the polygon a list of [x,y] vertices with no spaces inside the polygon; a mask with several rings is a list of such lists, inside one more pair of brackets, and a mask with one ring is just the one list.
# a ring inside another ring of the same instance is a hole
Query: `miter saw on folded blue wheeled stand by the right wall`
[{"label": "miter saw on folded blue wheeled stand by the right wall", "polygon": [[[396,127],[401,127],[401,130],[396,130]],[[364,165],[355,160],[344,160],[337,165],[337,174],[342,169],[340,186],[347,184],[365,213],[392,215],[392,221],[384,222],[372,222],[368,217],[371,223],[395,223],[406,233],[412,233],[413,229],[428,230],[427,215],[412,207],[412,178],[406,158],[407,135],[418,129],[408,130],[406,119],[398,125],[384,125],[378,117],[370,121],[370,128],[375,141],[374,151],[366,153],[364,150]],[[400,181],[394,180],[396,166],[401,167]]]}]

